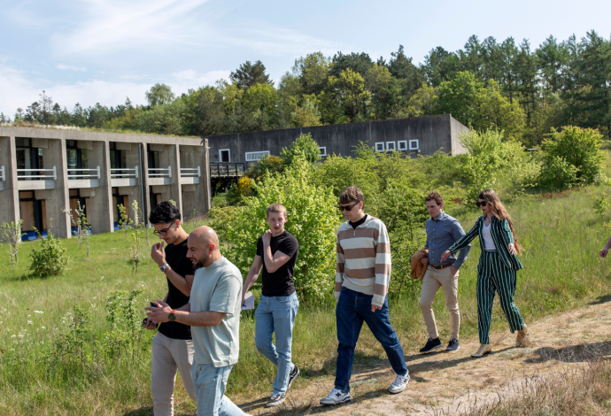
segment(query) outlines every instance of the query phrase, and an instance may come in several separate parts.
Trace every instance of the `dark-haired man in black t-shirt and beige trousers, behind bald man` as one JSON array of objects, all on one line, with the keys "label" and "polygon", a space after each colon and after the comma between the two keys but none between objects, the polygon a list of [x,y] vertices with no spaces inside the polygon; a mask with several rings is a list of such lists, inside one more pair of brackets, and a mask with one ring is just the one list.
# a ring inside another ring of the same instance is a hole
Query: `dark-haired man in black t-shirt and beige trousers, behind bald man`
[{"label": "dark-haired man in black t-shirt and beige trousers, behind bald man", "polygon": [[[181,212],[167,201],[153,208],[149,221],[166,242],[152,246],[151,258],[166,274],[167,295],[165,301],[170,307],[178,309],[189,303],[193,284],[193,265],[187,258],[187,238],[189,235],[181,227]],[[147,322],[147,329],[155,329],[155,324]],[[151,393],[155,416],[174,414],[174,381],[176,370],[180,370],[184,389],[189,397],[197,400],[191,366],[193,364],[193,341],[191,327],[178,322],[164,322],[152,340]]]}]

